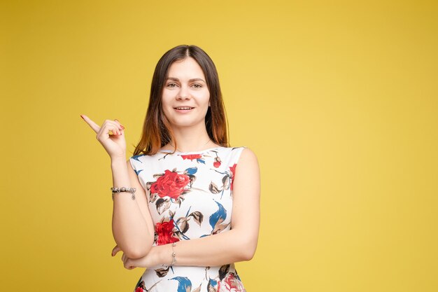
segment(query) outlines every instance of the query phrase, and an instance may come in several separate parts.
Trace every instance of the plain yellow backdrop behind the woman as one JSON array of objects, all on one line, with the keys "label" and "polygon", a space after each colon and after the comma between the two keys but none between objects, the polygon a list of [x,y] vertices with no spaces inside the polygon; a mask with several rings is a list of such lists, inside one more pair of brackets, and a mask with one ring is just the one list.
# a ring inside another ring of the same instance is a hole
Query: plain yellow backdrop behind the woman
[{"label": "plain yellow backdrop behind the woman", "polygon": [[[111,169],[179,44],[218,67],[262,171],[248,292],[437,291],[436,1],[1,1],[1,291],[132,291]],[[435,3],[434,3],[435,2]]]}]

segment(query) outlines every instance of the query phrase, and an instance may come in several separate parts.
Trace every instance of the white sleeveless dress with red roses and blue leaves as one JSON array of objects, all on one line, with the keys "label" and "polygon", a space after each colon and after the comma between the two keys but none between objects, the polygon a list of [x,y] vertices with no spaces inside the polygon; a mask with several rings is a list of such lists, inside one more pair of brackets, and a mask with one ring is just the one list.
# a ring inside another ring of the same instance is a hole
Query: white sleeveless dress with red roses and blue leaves
[{"label": "white sleeveless dress with red roses and blue leaves", "polygon": [[[129,158],[146,190],[155,239],[169,244],[227,232],[231,228],[234,173],[244,147],[199,152],[162,150]],[[177,244],[178,245],[178,244]],[[176,254],[178,261],[178,254]],[[148,267],[135,292],[241,292],[234,263],[217,267]]]}]

